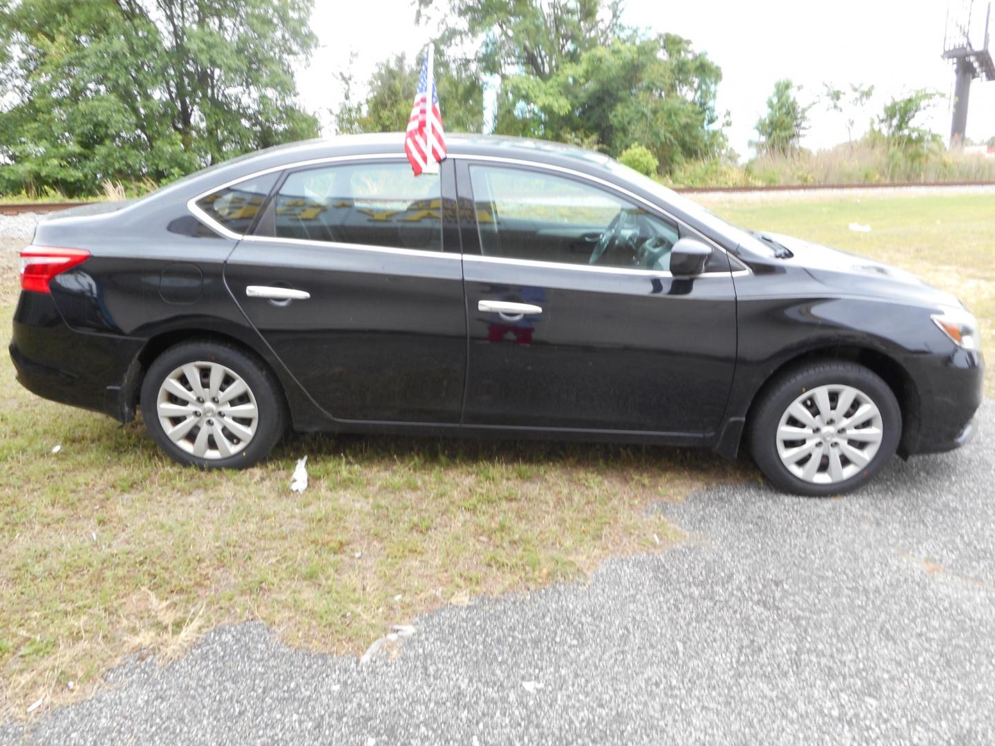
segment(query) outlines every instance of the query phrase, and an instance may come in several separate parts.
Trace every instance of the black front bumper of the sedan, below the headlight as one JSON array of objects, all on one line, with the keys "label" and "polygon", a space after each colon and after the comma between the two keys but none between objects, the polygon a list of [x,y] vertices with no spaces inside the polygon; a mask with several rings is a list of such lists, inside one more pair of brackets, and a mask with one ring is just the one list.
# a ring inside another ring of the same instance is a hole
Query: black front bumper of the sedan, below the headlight
[{"label": "black front bumper of the sedan, below the headlight", "polygon": [[905,423],[903,454],[939,454],[967,443],[984,397],[984,356],[957,348],[950,355],[912,358],[906,369],[916,379],[918,407]]}]

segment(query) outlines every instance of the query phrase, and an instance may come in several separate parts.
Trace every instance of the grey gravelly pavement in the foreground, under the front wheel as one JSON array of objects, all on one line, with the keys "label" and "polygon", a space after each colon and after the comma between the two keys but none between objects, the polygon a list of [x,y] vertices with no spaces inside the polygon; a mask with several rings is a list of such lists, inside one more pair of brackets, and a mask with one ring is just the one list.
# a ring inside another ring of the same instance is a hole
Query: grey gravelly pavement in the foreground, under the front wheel
[{"label": "grey gravelly pavement in the foreground, under the front wheel", "polygon": [[718,485],[589,581],[448,607],[366,664],[260,623],[3,743],[995,743],[995,402],[958,452],[804,499]]}]

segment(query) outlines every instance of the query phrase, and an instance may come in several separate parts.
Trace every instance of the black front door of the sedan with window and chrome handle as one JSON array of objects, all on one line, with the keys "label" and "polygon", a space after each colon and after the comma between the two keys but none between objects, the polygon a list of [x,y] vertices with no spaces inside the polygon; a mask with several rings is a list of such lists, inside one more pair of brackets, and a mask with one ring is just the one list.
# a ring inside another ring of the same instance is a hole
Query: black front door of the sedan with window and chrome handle
[{"label": "black front door of the sedan with window and chrome handle", "polygon": [[705,274],[672,277],[688,229],[581,174],[471,161],[460,182],[475,223],[466,425],[718,428],[736,354],[728,257],[716,248]]}]

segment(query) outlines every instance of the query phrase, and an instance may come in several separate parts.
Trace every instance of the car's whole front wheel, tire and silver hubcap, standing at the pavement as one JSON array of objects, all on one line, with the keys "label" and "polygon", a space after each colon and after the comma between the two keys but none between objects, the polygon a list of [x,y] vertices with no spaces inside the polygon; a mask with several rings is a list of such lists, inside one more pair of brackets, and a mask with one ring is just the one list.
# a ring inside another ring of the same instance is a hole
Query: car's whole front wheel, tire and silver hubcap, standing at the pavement
[{"label": "car's whole front wheel, tire and silver hubcap, standing at the pavement", "polygon": [[774,381],[754,409],[753,460],[795,494],[841,494],[895,455],[901,410],[880,376],[855,363],[811,363]]}]

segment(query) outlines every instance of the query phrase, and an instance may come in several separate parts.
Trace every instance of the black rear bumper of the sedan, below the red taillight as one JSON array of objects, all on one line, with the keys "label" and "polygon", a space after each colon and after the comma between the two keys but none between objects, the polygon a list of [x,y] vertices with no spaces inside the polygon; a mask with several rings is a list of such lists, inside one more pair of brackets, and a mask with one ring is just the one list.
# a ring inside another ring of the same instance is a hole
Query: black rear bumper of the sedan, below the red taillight
[{"label": "black rear bumper of the sedan, below the red taillight", "polygon": [[51,295],[22,292],[9,349],[28,391],[126,422],[132,408],[125,383],[141,346],[138,339],[74,331]]}]

